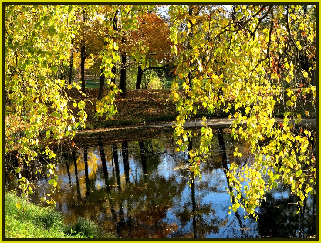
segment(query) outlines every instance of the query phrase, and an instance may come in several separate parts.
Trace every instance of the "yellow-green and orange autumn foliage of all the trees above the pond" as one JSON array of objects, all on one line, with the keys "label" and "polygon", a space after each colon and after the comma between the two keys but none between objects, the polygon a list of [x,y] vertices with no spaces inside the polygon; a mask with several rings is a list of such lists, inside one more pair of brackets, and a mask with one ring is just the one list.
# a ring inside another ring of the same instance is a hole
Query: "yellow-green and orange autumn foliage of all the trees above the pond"
[{"label": "yellow-green and orange autumn foliage of all the trees above the pond", "polygon": [[[98,8],[96,19],[86,19]],[[117,112],[113,102],[120,91],[112,70],[122,53],[142,71],[150,66],[147,57],[152,55],[154,60],[174,60],[176,77],[168,101],[176,104],[178,112],[173,125],[177,151],[186,151],[191,137],[201,139],[199,149],[188,151],[192,178],[201,177],[199,163],[211,151],[213,131],[205,116],[200,134],[185,129],[185,122],[201,108],[230,114],[233,138],[247,141],[252,155],[242,168],[231,163],[227,172],[233,211],[241,207],[246,217],[257,217],[256,207],[280,180],[291,187],[300,205],[308,193],[314,193],[316,155],[310,147],[315,146],[317,134],[306,119],[317,103],[316,5],[171,5],[168,23],[150,12],[154,5],[98,8],[4,6],[5,156],[17,151],[19,164],[13,169],[24,196],[32,193],[32,182],[23,177],[23,165],[39,157],[48,159],[48,183],[54,191],[56,154],[51,143],[74,146],[77,127],[85,126],[85,101],[77,103],[65,92],[74,86],[85,97],[80,84],[67,85],[57,77],[62,64],[70,65],[72,39],[84,51],[100,53],[107,89],[95,104],[95,117],[108,119]],[[161,26],[160,39],[168,35],[168,40],[159,43],[156,27],[144,22]],[[124,42],[130,35],[132,42]],[[184,92],[178,90],[179,84]],[[308,95],[311,101],[306,100]],[[235,99],[228,101],[230,97]],[[67,105],[70,100],[74,107]],[[276,105],[284,106],[285,112],[275,114]],[[237,147],[234,155],[242,156]]]}]

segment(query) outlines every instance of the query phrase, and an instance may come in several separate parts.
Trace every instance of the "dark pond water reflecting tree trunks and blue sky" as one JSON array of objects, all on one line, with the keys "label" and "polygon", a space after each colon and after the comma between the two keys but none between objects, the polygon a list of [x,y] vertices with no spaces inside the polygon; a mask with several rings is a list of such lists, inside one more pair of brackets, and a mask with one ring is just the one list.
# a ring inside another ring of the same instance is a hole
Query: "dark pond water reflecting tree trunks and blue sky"
[{"label": "dark pond water reflecting tree trunks and blue sky", "polygon": [[[123,238],[307,238],[316,234],[316,197],[309,196],[295,214],[297,198],[281,183],[266,195],[257,222],[245,220],[242,209],[229,215],[225,169],[234,161],[243,165],[249,155],[245,144],[232,142],[228,130],[223,136],[214,134],[213,141],[212,155],[201,165],[202,180],[189,187],[187,154],[175,152],[169,133],[118,143],[91,139],[92,144],[74,153],[62,152],[57,166],[60,189],[53,196],[56,210],[68,221],[79,216],[95,220],[102,230]],[[192,143],[198,146],[197,139]],[[235,146],[244,157],[233,156]],[[39,184],[35,203],[48,190],[45,178],[39,178]]]}]

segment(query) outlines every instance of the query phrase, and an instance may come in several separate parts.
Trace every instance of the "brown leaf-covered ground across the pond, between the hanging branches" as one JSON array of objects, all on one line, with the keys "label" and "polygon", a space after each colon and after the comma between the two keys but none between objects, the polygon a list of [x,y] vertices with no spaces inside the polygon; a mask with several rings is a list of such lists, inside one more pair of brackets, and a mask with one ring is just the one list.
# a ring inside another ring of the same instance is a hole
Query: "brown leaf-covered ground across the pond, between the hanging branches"
[{"label": "brown leaf-covered ground across the pond, between the hanging branches", "polygon": [[114,104],[118,112],[108,120],[106,117],[100,117],[97,120],[94,118],[98,89],[87,88],[86,97],[75,88],[68,90],[67,94],[76,102],[81,99],[86,102],[85,110],[88,115],[86,128],[97,129],[175,120],[176,106],[172,102],[166,102],[166,99],[170,97],[170,92],[169,89],[127,90],[126,98],[117,94]]}]

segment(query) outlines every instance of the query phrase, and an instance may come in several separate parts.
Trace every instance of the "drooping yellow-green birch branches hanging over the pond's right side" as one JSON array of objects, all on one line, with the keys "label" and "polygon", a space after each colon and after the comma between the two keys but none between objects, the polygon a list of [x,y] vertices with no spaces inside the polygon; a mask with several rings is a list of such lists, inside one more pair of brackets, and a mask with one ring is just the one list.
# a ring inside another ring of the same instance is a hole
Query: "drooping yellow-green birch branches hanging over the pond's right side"
[{"label": "drooping yellow-green birch branches hanging over the pond's right side", "polygon": [[[230,165],[228,176],[233,188],[230,195],[235,198],[231,209],[236,211],[242,207],[247,217],[257,217],[256,207],[266,191],[277,186],[277,179],[291,187],[302,205],[316,184],[316,159],[309,152],[309,144],[314,143],[316,134],[302,118],[309,116],[306,96],[310,95],[313,109],[317,91],[310,84],[308,72],[295,65],[295,58],[307,46],[315,55],[315,20],[308,18],[300,5],[237,5],[232,9],[233,19],[210,11],[197,25],[197,31],[196,25],[192,25],[196,23],[195,16],[189,14],[188,22],[184,19],[191,7],[169,8],[173,22],[170,39],[178,74],[171,86],[171,99],[178,111],[173,126],[178,150],[184,151],[188,137],[197,135],[184,128],[185,121],[201,108],[196,102],[209,113],[219,109],[231,113],[232,136],[247,141],[253,157],[253,161],[241,169],[234,163]],[[213,6],[209,5],[209,9]],[[259,36],[263,21],[270,23]],[[184,23],[187,30],[179,31]],[[302,41],[305,35],[308,36],[306,42]],[[185,43],[189,48],[178,49],[178,43]],[[315,68],[311,58],[309,72]],[[307,85],[302,84],[302,78]],[[180,81],[185,90],[183,96],[178,92]],[[283,82],[295,84],[286,90],[287,96],[282,95]],[[230,96],[235,100],[227,101]],[[276,119],[273,113],[277,103],[286,107],[284,118]],[[197,163],[207,157],[211,148],[213,133],[206,123],[203,117],[201,148],[189,151],[194,175],[200,175]],[[237,147],[234,154],[242,155]],[[309,181],[305,180],[304,168],[313,174]],[[264,176],[268,179],[264,180]],[[243,187],[244,182],[247,186]],[[245,195],[243,199],[242,195]]]}]

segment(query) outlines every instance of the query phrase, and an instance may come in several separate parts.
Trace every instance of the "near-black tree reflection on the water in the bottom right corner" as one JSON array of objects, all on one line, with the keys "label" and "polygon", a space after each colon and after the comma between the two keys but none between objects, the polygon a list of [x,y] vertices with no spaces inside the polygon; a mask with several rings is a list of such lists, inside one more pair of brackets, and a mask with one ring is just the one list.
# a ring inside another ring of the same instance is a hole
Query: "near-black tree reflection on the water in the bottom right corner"
[{"label": "near-black tree reflection on the water in the bottom right corner", "polygon": [[289,188],[279,184],[262,202],[258,230],[263,238],[307,238],[316,235],[316,195],[309,195],[299,214],[298,199]]}]

